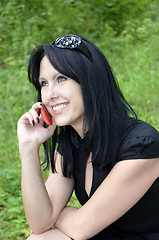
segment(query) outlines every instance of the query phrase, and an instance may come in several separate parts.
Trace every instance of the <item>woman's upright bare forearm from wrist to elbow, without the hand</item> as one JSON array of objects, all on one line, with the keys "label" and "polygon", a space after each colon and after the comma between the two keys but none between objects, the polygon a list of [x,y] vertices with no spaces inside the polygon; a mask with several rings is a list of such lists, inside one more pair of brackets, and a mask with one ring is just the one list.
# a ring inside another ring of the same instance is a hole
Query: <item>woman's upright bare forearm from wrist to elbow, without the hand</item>
[{"label": "woman's upright bare forearm from wrist to elbow, without the hand", "polygon": [[22,198],[26,218],[31,229],[40,233],[53,224],[53,206],[42,177],[38,149],[23,149]]}]

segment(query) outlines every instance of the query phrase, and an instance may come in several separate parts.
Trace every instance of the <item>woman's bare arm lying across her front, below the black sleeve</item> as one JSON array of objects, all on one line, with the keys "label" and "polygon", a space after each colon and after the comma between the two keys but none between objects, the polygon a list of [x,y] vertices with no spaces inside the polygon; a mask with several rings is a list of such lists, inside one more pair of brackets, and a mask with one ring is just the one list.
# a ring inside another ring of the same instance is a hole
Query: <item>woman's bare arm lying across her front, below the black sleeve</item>
[{"label": "woman's bare arm lying across her front, below the black sleeve", "polygon": [[55,226],[75,240],[91,238],[129,211],[158,177],[158,158],[121,161],[84,206],[65,208]]}]

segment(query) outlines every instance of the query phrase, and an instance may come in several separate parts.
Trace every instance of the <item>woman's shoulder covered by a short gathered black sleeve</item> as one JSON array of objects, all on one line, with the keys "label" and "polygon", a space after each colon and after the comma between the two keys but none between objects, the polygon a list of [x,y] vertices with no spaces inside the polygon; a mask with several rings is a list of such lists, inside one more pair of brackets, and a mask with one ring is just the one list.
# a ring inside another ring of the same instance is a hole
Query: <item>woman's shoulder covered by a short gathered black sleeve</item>
[{"label": "woman's shoulder covered by a short gathered black sleeve", "polygon": [[137,120],[131,130],[125,132],[119,150],[119,161],[159,157],[159,132],[150,124]]}]

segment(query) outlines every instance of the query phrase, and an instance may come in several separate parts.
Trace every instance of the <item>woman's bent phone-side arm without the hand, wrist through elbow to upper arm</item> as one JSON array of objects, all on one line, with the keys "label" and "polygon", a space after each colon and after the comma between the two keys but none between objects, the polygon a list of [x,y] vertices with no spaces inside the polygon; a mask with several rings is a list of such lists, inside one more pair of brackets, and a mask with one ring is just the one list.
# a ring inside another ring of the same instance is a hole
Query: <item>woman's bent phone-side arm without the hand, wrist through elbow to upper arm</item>
[{"label": "woman's bent phone-side arm without the hand, wrist through elbow to upper arm", "polygon": [[54,174],[50,171],[44,184],[38,153],[32,152],[30,161],[28,158],[22,162],[23,204],[30,228],[40,234],[53,227],[72,195],[74,181],[57,170]]}]

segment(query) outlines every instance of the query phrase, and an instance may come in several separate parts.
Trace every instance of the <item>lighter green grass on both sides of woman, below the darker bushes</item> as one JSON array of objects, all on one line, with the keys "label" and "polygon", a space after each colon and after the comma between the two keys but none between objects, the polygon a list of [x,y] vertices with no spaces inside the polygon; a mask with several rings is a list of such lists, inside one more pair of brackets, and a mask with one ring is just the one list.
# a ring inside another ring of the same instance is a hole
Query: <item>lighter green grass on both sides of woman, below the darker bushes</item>
[{"label": "lighter green grass on both sides of woman, below the darker bushes", "polygon": [[[120,87],[140,119],[159,130],[159,45],[158,36],[144,42],[129,43],[124,38],[112,43],[113,51],[102,50],[115,71]],[[113,45],[114,44],[114,45]],[[116,48],[118,44],[118,48]],[[100,46],[100,43],[99,43]],[[25,67],[12,61],[1,72],[0,108],[0,239],[20,240],[29,234],[21,199],[21,166],[16,124],[19,117],[36,101],[28,83]],[[47,172],[44,177],[46,178]],[[71,204],[78,205],[75,196]]]}]

